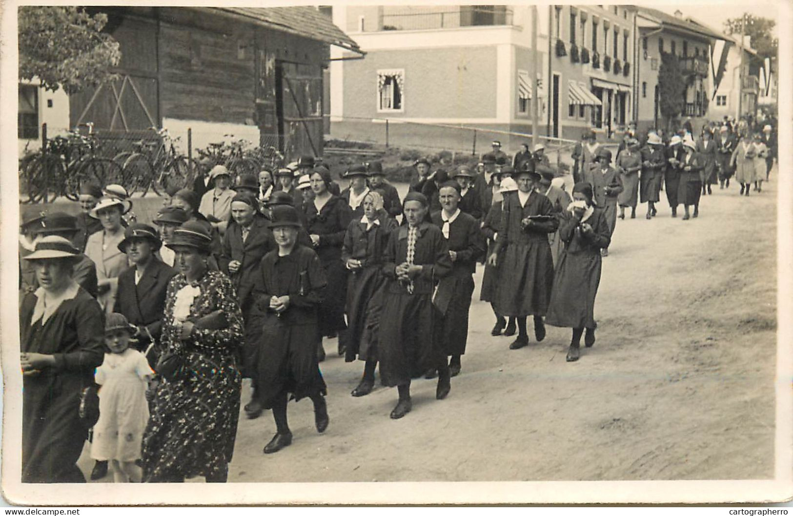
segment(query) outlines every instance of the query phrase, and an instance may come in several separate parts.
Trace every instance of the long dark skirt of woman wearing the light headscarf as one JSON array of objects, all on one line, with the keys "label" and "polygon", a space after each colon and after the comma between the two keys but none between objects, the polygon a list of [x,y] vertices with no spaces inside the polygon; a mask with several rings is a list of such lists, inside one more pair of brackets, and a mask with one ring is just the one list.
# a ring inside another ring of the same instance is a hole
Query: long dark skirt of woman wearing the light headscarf
[{"label": "long dark skirt of woman wearing the light headscarf", "polygon": [[377,357],[377,326],[385,277],[381,267],[350,271],[347,280],[347,351],[345,361]]}]

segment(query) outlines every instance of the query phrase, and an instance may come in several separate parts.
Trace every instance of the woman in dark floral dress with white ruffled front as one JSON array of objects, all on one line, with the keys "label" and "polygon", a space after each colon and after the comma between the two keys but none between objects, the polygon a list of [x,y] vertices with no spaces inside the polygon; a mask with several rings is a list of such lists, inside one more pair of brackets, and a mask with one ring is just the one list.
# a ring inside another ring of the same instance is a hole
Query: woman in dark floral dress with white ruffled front
[{"label": "woman in dark floral dress with white ruffled front", "polygon": [[182,366],[155,394],[144,433],[144,482],[228,477],[239,419],[236,355],[243,323],[232,281],[209,270],[211,245],[209,228],[191,221],[167,243],[179,274],[168,285],[162,346]]}]

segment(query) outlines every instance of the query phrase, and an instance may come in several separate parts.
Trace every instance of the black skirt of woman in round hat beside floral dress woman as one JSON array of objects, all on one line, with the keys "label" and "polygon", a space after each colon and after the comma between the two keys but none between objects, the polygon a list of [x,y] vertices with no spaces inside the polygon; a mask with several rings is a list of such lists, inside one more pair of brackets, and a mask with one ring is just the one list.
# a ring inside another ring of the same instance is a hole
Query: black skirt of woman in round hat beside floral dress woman
[{"label": "black skirt of woman in round hat beside floral dress woman", "polygon": [[315,323],[286,324],[273,313],[264,316],[256,382],[262,407],[271,408],[282,392],[292,393],[296,401],[327,394],[316,358],[320,338]]}]

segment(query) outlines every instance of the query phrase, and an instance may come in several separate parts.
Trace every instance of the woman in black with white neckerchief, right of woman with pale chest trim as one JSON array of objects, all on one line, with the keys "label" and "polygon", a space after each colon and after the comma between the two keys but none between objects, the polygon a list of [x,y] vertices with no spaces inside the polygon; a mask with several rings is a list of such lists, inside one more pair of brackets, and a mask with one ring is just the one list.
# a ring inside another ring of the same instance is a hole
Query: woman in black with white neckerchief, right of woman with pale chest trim
[{"label": "woman in black with white neckerchief, right of woman with pale chest trim", "polygon": [[441,185],[439,194],[442,209],[432,214],[432,223],[440,227],[446,238],[452,269],[439,282],[435,307],[442,314],[440,338],[446,356],[450,357],[450,373],[457,376],[468,342],[473,273],[477,270],[477,260],[485,254],[485,239],[479,231],[479,221],[458,208],[461,197],[457,182]]}]

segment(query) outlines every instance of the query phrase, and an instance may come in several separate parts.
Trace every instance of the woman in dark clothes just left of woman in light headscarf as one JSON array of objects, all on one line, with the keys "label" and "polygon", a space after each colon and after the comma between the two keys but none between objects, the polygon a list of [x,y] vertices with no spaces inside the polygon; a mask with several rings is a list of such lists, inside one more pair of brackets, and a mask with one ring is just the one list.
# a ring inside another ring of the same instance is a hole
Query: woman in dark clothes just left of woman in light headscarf
[{"label": "woman in dark clothes just left of woman in light headscarf", "polygon": [[[328,277],[328,293],[320,304],[320,332],[325,337],[334,337],[347,328],[344,323],[347,269],[342,262],[342,245],[352,220],[352,211],[341,197],[331,194],[331,173],[327,169],[316,168],[310,178],[316,197],[303,207],[305,228],[320,257],[325,277]],[[339,336],[339,355],[343,354],[344,339],[343,335]]]}]

